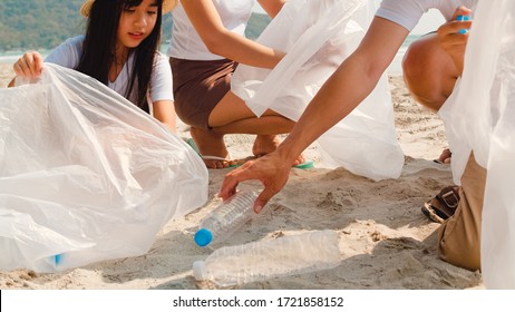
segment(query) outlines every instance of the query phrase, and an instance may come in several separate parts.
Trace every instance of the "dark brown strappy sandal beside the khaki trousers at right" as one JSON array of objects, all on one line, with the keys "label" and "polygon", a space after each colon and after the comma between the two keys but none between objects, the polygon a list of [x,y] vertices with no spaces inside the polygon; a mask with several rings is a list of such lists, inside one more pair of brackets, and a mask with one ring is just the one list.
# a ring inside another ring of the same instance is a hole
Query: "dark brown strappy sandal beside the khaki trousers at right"
[{"label": "dark brown strappy sandal beside the khaki trousers at right", "polygon": [[459,203],[459,187],[446,186],[434,198],[426,202],[422,213],[433,222],[444,223],[456,212]]}]

